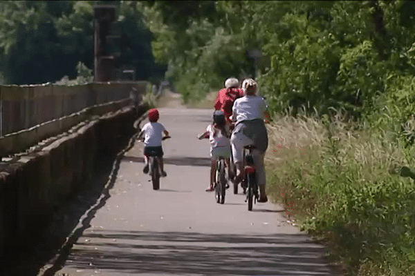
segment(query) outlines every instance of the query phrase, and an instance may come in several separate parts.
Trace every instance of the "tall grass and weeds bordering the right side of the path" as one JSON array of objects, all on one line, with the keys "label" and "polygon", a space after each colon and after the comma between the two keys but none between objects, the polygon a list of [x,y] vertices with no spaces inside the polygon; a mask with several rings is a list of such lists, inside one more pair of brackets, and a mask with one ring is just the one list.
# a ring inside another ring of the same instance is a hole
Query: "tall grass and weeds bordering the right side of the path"
[{"label": "tall grass and weeds bordering the right side of the path", "polygon": [[288,112],[268,127],[268,193],[348,275],[415,275],[415,189],[396,173],[410,149],[342,112],[317,118]]}]

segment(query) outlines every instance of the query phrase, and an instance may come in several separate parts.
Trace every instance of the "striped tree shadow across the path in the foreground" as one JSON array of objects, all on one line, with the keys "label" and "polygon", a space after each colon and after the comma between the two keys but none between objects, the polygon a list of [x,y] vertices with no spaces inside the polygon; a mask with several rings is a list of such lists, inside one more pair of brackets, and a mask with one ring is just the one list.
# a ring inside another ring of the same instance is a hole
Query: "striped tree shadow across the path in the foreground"
[{"label": "striped tree shadow across the path in the foreground", "polygon": [[306,235],[94,230],[66,266],[172,275],[338,275]]}]

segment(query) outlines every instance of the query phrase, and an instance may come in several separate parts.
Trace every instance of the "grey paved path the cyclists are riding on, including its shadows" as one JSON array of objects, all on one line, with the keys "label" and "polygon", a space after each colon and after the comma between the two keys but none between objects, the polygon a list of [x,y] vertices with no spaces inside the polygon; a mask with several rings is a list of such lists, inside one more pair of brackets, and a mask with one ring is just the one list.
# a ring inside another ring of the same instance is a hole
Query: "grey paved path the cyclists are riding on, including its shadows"
[{"label": "grey paved path the cyclists are riding on, including its shadows", "polygon": [[211,110],[160,109],[172,136],[160,190],[142,174],[136,143],[56,275],[334,275],[324,248],[286,223],[282,206],[256,204],[248,212],[242,194],[230,189],[220,205],[205,192],[209,144],[196,135],[210,117]]}]

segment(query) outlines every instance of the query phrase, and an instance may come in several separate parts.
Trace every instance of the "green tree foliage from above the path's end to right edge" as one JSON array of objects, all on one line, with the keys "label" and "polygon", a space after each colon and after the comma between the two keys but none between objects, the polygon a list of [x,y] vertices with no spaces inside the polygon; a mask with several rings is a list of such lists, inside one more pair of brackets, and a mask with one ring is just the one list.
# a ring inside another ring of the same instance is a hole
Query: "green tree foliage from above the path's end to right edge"
[{"label": "green tree foliage from above the path's end to right edge", "polygon": [[415,73],[411,1],[191,2],[138,4],[185,100],[252,77],[252,48],[266,56],[257,79],[273,112],[342,108],[365,119],[391,78]]}]

